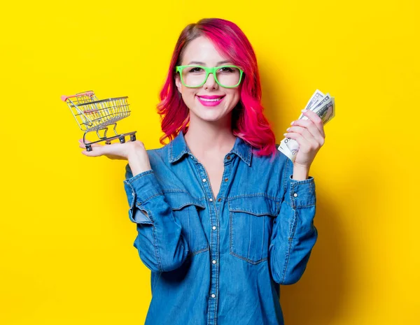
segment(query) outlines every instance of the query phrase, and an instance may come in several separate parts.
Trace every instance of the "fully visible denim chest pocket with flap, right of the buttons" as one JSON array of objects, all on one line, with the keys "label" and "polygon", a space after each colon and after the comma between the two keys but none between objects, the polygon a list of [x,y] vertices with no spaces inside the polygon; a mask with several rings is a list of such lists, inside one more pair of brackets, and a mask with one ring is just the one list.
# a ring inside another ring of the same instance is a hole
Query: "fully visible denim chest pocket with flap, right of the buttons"
[{"label": "fully visible denim chest pocket with flap, right of the buttons", "polygon": [[268,259],[269,238],[280,204],[265,196],[228,201],[230,254],[251,264]]}]

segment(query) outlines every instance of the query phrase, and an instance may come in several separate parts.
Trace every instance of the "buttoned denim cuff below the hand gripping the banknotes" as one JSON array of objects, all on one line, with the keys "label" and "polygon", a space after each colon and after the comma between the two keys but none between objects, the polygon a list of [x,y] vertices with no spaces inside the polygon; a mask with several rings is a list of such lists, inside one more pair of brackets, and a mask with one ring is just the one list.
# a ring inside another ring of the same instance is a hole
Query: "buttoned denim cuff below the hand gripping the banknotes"
[{"label": "buttoned denim cuff below the hand gripping the banknotes", "polygon": [[309,176],[307,180],[293,180],[288,177],[286,202],[293,208],[309,208],[316,205],[315,180]]}]

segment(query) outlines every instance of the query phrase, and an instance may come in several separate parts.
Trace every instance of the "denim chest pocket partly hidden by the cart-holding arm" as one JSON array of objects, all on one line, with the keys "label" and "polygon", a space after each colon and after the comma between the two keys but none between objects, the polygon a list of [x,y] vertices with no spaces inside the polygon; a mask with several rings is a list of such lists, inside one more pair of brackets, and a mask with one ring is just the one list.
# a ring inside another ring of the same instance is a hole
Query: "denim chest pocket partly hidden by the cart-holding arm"
[{"label": "denim chest pocket partly hidden by the cart-holding arm", "polygon": [[205,205],[188,192],[167,192],[164,195],[176,222],[182,226],[182,236],[186,238],[190,251],[188,254],[195,255],[209,250],[199,215],[200,210],[205,209]]}]

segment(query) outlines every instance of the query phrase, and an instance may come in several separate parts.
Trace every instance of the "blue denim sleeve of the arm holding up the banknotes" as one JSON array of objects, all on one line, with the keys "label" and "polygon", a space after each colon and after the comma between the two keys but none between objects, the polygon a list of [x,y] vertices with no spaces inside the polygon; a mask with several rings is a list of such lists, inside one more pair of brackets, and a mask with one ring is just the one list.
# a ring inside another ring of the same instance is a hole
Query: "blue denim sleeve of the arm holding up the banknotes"
[{"label": "blue denim sleeve of the arm holding up the banknotes", "polygon": [[315,181],[311,176],[293,180],[293,164],[287,159],[281,187],[284,196],[273,224],[269,267],[275,282],[293,284],[302,277],[318,237]]}]

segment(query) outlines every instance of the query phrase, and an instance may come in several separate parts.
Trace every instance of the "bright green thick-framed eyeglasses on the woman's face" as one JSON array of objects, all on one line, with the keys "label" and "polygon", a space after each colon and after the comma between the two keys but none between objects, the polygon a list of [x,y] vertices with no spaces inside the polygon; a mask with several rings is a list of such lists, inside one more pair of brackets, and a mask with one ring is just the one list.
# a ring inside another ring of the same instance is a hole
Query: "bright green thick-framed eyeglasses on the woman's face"
[{"label": "bright green thick-framed eyeglasses on the woman's face", "polygon": [[176,66],[176,72],[181,75],[181,82],[184,86],[197,88],[204,85],[209,78],[209,73],[213,73],[214,80],[224,88],[238,87],[242,80],[244,71],[239,66]]}]

